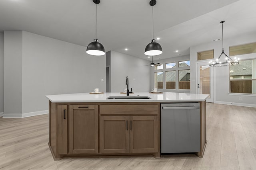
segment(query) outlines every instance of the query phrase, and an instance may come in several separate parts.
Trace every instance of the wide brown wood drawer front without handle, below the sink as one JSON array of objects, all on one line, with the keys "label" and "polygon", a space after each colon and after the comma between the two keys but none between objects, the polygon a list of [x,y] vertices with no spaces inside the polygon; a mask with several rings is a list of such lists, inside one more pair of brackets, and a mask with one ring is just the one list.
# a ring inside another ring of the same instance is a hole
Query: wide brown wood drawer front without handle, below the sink
[{"label": "wide brown wood drawer front without handle, below the sink", "polygon": [[101,105],[101,115],[158,114],[158,105]]}]

